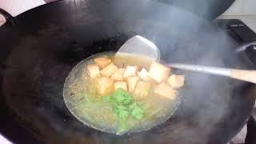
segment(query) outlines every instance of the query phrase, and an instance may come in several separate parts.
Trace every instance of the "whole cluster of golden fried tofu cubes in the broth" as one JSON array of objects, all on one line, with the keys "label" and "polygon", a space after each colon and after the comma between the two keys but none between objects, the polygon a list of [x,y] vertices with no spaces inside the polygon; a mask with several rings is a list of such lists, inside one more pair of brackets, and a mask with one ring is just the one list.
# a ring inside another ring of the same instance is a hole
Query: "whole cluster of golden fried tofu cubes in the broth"
[{"label": "whole cluster of golden fried tofu cubes in the broth", "polygon": [[[147,98],[150,90],[163,98],[174,100],[184,85],[185,76],[171,74],[170,67],[152,62],[149,71],[138,66],[115,66],[110,58],[94,58],[94,64],[87,66],[90,78],[96,80],[98,94],[110,94],[122,88],[134,94],[135,99]],[[152,85],[154,82],[154,86]]]}]

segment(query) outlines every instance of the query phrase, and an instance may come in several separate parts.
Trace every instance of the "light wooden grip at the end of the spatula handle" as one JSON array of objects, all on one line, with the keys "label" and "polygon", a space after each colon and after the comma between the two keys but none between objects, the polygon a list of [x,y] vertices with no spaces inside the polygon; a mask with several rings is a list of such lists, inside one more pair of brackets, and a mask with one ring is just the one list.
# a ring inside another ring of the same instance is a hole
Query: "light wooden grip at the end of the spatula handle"
[{"label": "light wooden grip at the end of the spatula handle", "polygon": [[256,84],[256,70],[236,70],[230,71],[230,77],[240,79],[246,82],[252,82]]}]

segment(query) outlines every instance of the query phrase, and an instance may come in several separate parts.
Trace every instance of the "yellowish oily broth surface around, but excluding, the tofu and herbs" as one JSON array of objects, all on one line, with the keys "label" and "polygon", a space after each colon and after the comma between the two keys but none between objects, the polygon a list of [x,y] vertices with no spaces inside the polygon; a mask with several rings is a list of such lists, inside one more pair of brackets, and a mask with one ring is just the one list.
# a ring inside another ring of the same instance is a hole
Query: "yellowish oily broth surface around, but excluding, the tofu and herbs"
[{"label": "yellowish oily broth surface around, but excluding, the tofu and herbs", "polygon": [[[112,106],[109,102],[103,102],[102,96],[96,94],[95,81],[90,79],[87,71],[87,65],[94,63],[94,58],[100,57],[110,58],[118,67],[137,65],[139,69],[144,67],[148,70],[151,64],[150,59],[146,57],[130,54],[121,54],[114,57],[113,52],[96,54],[79,62],[66,78],[63,90],[66,106],[78,120],[87,126],[108,133],[134,133],[149,130],[165,122],[177,110],[180,96],[171,101],[154,94],[154,91],[150,90],[147,98],[136,101],[140,104],[142,110],[145,110],[144,117],[138,120],[129,116],[126,120],[126,125],[129,128],[126,131],[119,132],[118,118],[114,114]],[[154,87],[154,82],[151,82],[151,87]]]}]

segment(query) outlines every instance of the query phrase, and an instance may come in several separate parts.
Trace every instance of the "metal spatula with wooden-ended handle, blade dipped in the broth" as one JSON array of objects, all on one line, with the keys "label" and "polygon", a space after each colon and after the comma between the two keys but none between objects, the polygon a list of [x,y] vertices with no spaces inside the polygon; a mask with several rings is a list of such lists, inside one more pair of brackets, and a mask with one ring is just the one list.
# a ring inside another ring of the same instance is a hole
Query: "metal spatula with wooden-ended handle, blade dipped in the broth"
[{"label": "metal spatula with wooden-ended handle, blade dipped in the broth", "polygon": [[[119,53],[141,54],[152,58],[156,62],[159,62],[161,58],[158,47],[155,46],[153,42],[150,42],[150,40],[139,35],[130,38],[125,44],[123,44],[117,54]],[[182,63],[169,63],[168,66],[181,70],[222,75],[256,84],[256,70],[237,70],[212,66],[187,65]]]}]

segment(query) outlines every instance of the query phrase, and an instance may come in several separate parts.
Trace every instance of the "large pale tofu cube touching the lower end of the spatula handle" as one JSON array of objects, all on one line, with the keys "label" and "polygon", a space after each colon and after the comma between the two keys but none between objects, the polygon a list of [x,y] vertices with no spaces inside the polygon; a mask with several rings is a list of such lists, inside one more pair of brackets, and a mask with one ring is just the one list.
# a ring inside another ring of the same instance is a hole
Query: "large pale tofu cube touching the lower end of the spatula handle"
[{"label": "large pale tofu cube touching the lower end of the spatula handle", "polygon": [[163,82],[170,74],[170,68],[158,62],[153,62],[150,66],[149,76],[156,82]]}]

